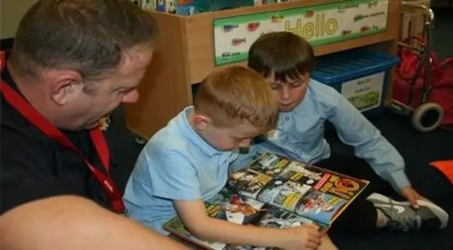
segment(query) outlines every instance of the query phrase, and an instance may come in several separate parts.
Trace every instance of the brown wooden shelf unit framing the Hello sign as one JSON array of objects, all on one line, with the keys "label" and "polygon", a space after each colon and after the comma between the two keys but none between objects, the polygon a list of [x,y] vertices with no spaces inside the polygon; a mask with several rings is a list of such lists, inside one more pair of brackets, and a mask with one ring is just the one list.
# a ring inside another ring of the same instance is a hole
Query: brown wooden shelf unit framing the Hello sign
[{"label": "brown wooden shelf unit framing the Hello sign", "polygon": [[[299,0],[280,4],[236,8],[194,16],[151,12],[159,27],[154,58],[139,85],[139,102],[125,106],[127,127],[148,139],[184,107],[192,104],[192,85],[200,83],[214,66],[212,20],[247,13],[335,3],[338,0]],[[396,53],[400,22],[400,1],[389,0],[385,32],[314,47],[316,56],[356,47],[370,47]],[[236,63],[245,65],[246,62]],[[231,66],[235,64],[228,64]],[[391,79],[391,78],[390,78]],[[391,81],[391,80],[390,80]],[[389,84],[391,91],[391,84]],[[387,97],[390,93],[387,93]]]}]

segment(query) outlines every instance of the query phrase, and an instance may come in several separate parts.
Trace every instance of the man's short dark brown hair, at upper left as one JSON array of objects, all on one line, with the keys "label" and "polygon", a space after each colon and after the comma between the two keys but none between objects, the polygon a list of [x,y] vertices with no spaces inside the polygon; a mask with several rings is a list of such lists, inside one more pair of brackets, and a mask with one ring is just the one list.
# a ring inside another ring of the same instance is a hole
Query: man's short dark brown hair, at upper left
[{"label": "man's short dark brown hair, at upper left", "polygon": [[71,69],[96,81],[156,32],[154,18],[129,0],[40,0],[21,20],[11,64],[26,76]]}]

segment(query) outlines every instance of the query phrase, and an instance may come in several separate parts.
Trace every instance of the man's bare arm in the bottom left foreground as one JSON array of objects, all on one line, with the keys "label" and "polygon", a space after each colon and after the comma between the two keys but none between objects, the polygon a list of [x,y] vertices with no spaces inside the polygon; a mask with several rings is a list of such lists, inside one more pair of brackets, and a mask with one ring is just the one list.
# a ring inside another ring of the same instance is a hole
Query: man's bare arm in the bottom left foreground
[{"label": "man's bare arm in the bottom left foreground", "polygon": [[1,215],[0,249],[186,248],[86,198],[54,196],[25,203]]}]

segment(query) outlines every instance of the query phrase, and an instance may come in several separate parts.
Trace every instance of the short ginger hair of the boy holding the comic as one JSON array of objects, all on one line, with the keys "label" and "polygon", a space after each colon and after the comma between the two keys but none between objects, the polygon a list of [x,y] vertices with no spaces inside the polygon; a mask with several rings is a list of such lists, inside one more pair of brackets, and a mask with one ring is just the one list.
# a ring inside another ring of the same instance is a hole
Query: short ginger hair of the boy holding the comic
[{"label": "short ginger hair of the boy holding the comic", "polygon": [[257,129],[275,128],[278,105],[263,76],[241,66],[214,71],[195,95],[195,112],[206,114],[218,127],[248,121]]}]

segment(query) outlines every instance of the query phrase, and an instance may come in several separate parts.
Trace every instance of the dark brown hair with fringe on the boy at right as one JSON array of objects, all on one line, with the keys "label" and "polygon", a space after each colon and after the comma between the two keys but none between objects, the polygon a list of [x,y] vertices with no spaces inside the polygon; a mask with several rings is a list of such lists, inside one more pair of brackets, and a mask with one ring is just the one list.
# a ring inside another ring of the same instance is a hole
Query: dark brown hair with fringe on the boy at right
[{"label": "dark brown hair with fringe on the boy at right", "polygon": [[299,79],[315,64],[309,42],[292,32],[269,32],[258,38],[248,50],[248,67],[265,78],[274,73],[275,81]]}]

